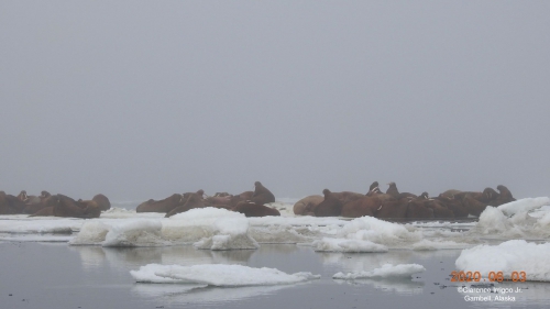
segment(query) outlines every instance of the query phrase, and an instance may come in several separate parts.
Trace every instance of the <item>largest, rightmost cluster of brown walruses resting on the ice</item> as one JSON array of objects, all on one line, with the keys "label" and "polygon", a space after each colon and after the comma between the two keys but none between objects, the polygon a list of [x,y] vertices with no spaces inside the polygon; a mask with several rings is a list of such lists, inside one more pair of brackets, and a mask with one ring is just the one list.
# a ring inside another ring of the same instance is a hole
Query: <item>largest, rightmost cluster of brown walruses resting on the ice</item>
[{"label": "largest, rightmost cluster of brown walruses resting on the ice", "polygon": [[503,185],[486,188],[483,191],[447,190],[436,198],[428,192],[416,196],[399,192],[395,183],[389,183],[386,192],[382,192],[374,181],[369,191],[322,191],[323,196],[309,196],[294,205],[294,213],[315,217],[359,218],[371,216],[396,221],[413,219],[453,219],[479,217],[487,206],[501,206],[516,200],[510,190]]}]

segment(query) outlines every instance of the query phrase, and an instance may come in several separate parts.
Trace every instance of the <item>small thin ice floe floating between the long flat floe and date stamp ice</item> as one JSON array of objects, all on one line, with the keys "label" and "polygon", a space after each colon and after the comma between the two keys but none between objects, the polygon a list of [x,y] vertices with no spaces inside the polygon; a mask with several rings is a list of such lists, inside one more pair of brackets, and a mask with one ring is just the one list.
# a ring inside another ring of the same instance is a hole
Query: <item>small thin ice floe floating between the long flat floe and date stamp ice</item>
[{"label": "small thin ice floe floating between the long flat floe and date stamp ice", "polygon": [[422,272],[426,272],[426,268],[419,264],[385,264],[370,272],[337,273],[332,278],[342,280],[410,278],[414,274]]}]

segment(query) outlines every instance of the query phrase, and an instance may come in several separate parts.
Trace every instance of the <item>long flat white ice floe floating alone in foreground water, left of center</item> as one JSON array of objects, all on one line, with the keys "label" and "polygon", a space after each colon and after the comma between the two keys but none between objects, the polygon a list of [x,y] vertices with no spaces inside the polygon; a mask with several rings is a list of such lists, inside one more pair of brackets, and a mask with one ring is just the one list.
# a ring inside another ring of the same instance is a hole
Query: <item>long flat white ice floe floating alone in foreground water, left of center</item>
[{"label": "long flat white ice floe floating alone in foreground water, left of center", "polygon": [[289,285],[320,278],[311,273],[286,274],[275,268],[206,264],[193,266],[147,264],[130,274],[138,283],[200,284],[219,287]]}]

